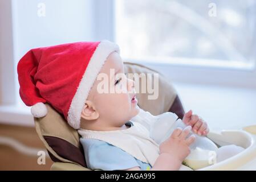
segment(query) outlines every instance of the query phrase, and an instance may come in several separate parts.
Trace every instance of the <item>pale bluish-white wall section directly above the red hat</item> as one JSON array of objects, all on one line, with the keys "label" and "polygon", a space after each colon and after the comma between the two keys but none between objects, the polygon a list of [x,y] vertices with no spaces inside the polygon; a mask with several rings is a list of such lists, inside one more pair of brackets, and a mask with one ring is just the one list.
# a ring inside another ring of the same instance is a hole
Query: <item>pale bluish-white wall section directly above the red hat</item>
[{"label": "pale bluish-white wall section directly above the red hat", "polygon": [[[31,48],[95,40],[92,5],[92,0],[75,0],[75,3],[70,0],[13,0],[16,65]],[[15,71],[15,78],[17,78],[17,71]],[[18,88],[18,80],[15,79],[15,81]],[[19,104],[24,105],[18,92],[16,96]]]}]

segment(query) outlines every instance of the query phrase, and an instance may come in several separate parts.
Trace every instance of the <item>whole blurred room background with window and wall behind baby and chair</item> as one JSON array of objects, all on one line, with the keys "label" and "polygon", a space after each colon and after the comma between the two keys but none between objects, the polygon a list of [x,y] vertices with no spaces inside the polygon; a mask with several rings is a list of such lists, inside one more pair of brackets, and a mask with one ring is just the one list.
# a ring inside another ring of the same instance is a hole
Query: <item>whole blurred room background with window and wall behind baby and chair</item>
[{"label": "whole blurred room background with window and wall behind baby and chair", "polygon": [[254,0],[0,0],[0,170],[52,164],[19,97],[19,59],[35,47],[103,39],[119,44],[123,60],[163,73],[210,129],[255,125]]}]

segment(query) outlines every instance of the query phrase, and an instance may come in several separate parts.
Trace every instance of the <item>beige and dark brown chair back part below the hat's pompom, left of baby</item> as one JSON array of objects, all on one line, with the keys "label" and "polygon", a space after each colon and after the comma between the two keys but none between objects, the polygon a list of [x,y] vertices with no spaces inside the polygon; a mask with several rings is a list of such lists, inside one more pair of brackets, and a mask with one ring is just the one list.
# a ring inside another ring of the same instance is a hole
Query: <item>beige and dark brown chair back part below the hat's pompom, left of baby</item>
[{"label": "beige and dark brown chair back part below the hat's pompom, left of baby", "polygon": [[86,167],[79,134],[49,104],[45,117],[34,118],[35,129],[54,162],[69,162]]}]

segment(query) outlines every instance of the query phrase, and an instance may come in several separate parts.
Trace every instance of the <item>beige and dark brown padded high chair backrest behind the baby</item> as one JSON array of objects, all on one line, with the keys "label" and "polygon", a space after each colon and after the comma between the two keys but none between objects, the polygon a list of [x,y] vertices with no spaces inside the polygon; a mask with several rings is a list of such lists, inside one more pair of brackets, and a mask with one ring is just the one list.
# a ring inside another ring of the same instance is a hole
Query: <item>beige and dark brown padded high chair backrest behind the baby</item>
[{"label": "beige and dark brown padded high chair backrest behind the baby", "polygon": [[[158,73],[140,64],[124,63],[125,73]],[[141,80],[140,80],[141,81]],[[182,118],[184,109],[172,84],[159,75],[159,97],[148,100],[148,93],[137,93],[138,105],[154,115],[172,111]],[[54,162],[75,163],[86,167],[83,148],[79,142],[79,134],[68,125],[49,104],[48,114],[42,118],[34,118],[36,132],[46,146]]]}]

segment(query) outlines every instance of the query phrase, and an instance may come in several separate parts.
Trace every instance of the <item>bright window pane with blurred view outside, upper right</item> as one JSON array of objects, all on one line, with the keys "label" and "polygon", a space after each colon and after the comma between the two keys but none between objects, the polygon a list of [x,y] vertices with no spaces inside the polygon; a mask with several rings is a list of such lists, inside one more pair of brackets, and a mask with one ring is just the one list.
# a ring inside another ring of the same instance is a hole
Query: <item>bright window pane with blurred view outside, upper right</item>
[{"label": "bright window pane with blurred view outside, upper right", "polygon": [[256,1],[115,1],[116,42],[130,60],[251,68]]}]

